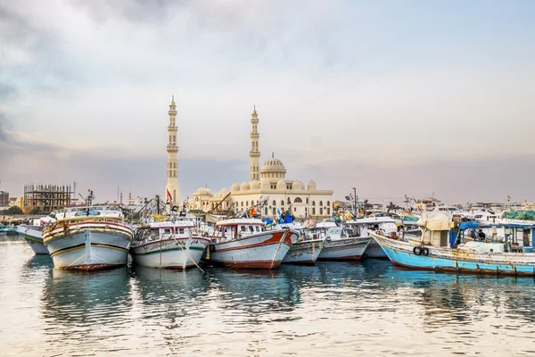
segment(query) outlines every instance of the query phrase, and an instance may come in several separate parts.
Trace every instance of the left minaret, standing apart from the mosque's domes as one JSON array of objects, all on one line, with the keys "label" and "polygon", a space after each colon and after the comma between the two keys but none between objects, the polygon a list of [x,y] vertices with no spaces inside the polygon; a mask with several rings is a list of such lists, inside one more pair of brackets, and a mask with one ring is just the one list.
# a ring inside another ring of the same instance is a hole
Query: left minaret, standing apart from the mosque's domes
[{"label": "left minaret, standing apart from the mosque's domes", "polygon": [[[166,188],[166,197],[168,192],[172,197],[172,204],[178,205],[180,203],[180,187],[178,187],[178,162],[177,162],[177,126],[175,120],[177,119],[177,105],[175,105],[175,95],[171,104],[169,104],[169,144],[168,150],[168,184]],[[169,199],[169,197],[167,198]]]}]

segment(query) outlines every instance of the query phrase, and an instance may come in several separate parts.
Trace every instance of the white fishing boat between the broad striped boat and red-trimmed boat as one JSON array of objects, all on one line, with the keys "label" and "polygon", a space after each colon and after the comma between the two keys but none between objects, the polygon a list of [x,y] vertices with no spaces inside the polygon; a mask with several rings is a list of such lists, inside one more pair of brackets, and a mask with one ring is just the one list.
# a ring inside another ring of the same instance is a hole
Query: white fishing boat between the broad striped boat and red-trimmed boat
[{"label": "white fishing boat between the broad striped boat and red-trimmed boat", "polygon": [[137,228],[130,253],[144,267],[186,269],[199,264],[209,245],[193,220],[153,222]]}]

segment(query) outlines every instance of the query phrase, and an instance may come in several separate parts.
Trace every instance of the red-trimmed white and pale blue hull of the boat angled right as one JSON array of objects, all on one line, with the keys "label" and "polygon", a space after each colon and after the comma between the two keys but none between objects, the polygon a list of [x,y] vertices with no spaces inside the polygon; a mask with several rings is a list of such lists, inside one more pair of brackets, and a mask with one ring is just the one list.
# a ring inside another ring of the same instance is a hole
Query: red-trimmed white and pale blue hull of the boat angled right
[{"label": "red-trimmed white and pale blue hull of the boat angled right", "polygon": [[299,237],[295,230],[265,231],[210,245],[206,261],[228,268],[276,269]]}]

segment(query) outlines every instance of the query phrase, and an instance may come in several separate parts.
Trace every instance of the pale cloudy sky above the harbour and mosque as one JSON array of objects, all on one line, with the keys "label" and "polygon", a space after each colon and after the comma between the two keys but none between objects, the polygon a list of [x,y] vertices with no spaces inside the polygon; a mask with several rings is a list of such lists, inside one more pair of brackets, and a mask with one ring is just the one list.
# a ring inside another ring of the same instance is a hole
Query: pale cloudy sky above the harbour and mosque
[{"label": "pale cloudy sky above the harbour and mosque", "polygon": [[0,189],[181,198],[249,179],[535,201],[535,2],[0,0]]}]

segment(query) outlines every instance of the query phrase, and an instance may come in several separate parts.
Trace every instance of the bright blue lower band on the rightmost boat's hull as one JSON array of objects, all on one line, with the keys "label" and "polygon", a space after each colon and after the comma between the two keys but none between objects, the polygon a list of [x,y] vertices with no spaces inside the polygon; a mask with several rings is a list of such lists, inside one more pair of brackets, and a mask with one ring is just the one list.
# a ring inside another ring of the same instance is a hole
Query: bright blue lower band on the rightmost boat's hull
[{"label": "bright blue lower band on the rightmost boat's hull", "polygon": [[408,253],[400,250],[396,251],[386,246],[383,246],[383,250],[394,264],[419,270],[448,270],[456,272],[505,275],[535,275],[535,267],[533,265],[455,261],[432,256],[416,255],[414,253]]}]

